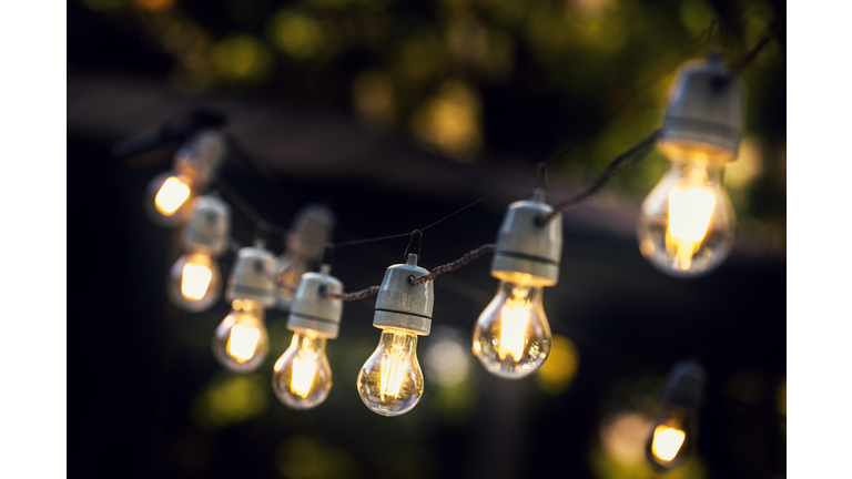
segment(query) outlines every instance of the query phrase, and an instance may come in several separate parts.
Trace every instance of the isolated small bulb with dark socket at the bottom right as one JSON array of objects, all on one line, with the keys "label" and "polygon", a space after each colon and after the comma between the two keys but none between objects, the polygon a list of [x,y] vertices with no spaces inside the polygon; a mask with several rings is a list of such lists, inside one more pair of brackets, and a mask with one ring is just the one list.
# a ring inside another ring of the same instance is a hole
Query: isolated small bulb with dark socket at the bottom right
[{"label": "isolated small bulb with dark socket at the bottom right", "polygon": [[648,462],[657,470],[674,469],[692,452],[703,383],[704,370],[696,363],[678,363],[672,368],[660,401],[662,412],[646,445]]}]

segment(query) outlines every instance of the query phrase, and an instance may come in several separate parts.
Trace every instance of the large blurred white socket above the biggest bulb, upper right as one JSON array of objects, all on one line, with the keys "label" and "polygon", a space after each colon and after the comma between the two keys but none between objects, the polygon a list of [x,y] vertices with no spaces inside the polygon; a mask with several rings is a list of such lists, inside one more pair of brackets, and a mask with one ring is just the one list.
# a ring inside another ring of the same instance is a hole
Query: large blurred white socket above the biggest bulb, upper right
[{"label": "large blurred white socket above the biggest bulb, upper right", "polygon": [[742,78],[720,55],[686,62],[669,90],[660,146],[737,157],[742,137]]}]

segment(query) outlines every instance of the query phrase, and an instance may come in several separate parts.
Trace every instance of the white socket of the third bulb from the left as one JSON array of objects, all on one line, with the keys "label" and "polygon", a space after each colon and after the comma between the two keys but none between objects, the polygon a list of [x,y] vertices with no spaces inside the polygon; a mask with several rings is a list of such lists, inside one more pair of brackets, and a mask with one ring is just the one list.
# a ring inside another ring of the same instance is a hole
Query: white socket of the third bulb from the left
[{"label": "white socket of the third bulb from the left", "polygon": [[275,257],[258,244],[240,248],[234,271],[227,278],[225,299],[248,299],[265,307],[275,304]]}]

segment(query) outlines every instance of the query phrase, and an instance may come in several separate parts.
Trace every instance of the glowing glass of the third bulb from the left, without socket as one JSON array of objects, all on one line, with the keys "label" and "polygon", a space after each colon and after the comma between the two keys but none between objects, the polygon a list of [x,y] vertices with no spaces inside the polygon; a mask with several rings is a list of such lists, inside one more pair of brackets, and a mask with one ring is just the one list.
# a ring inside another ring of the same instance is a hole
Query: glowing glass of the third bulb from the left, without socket
[{"label": "glowing glass of the third bulb from the left, without socket", "polygon": [[234,373],[257,369],[270,351],[270,334],[263,306],[248,299],[234,299],[233,309],[216,326],[213,355]]}]

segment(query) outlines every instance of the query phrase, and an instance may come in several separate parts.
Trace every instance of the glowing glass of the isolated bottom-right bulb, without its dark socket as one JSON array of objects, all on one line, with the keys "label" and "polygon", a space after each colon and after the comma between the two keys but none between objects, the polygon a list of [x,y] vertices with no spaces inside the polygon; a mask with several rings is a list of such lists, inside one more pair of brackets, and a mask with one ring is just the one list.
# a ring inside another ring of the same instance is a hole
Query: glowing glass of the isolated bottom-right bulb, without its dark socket
[{"label": "glowing glass of the isolated bottom-right bulb, without its dark socket", "polygon": [[648,461],[658,470],[674,469],[692,451],[694,431],[690,409],[669,406],[651,428],[646,445]]}]

